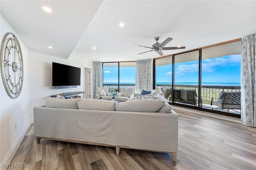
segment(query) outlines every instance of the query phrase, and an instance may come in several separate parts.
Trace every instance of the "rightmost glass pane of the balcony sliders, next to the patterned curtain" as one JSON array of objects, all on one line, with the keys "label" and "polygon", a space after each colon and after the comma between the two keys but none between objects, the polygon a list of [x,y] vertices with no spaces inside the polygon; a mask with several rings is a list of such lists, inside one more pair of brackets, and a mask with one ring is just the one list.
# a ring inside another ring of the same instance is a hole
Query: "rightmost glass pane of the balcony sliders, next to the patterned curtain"
[{"label": "rightmost glass pane of the balcony sliders, next to the patterned curtain", "polygon": [[240,109],[221,109],[211,101],[218,101],[223,92],[240,92],[241,49],[241,41],[202,49],[203,108],[240,114]]}]

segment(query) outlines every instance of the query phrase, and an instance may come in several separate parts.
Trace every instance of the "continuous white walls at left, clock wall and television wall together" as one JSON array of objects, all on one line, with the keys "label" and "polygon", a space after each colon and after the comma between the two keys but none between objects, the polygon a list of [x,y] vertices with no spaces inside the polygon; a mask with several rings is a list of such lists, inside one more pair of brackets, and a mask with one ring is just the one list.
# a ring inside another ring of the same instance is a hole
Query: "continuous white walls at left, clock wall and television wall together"
[{"label": "continuous white walls at left, clock wall and television wall together", "polygon": [[[0,18],[0,40],[5,33],[12,32],[8,22]],[[33,122],[33,107],[44,105],[46,96],[63,92],[84,91],[84,67],[91,68],[93,62],[70,55],[68,60],[30,50],[18,37],[24,62],[24,82],[20,96],[11,99],[4,89],[0,76],[0,161],[9,163],[20,145],[30,123]],[[55,89],[52,87],[52,62],[81,68],[81,86],[77,88]],[[91,73],[92,74],[92,73]],[[92,76],[91,76],[92,82]],[[92,90],[91,90],[92,94]],[[14,122],[17,128],[14,129]],[[22,162],[20,162],[22,163]],[[1,169],[6,169],[2,168]]]}]

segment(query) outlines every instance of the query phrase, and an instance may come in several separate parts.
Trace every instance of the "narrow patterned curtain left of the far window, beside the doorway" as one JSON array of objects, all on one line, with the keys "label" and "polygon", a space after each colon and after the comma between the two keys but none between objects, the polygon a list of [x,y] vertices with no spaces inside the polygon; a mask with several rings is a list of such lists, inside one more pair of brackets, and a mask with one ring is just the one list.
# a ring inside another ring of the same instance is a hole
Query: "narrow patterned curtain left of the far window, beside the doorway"
[{"label": "narrow patterned curtain left of the far window, beside the doorway", "polygon": [[96,94],[96,87],[102,87],[102,79],[103,79],[103,74],[102,74],[102,62],[93,62],[93,98],[96,99],[95,94]]}]

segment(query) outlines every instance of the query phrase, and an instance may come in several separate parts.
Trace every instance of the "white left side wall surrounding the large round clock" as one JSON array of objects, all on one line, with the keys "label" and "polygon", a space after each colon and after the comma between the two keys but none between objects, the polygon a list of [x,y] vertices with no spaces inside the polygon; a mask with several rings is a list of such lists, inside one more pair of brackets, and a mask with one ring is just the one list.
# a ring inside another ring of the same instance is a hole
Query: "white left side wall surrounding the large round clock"
[{"label": "white left side wall surrounding the large round clock", "polygon": [[[29,77],[28,77],[28,48],[18,37],[8,22],[0,16],[0,40],[7,32],[14,33],[22,49],[24,64],[24,82],[21,94],[16,99],[11,99],[4,89],[2,76],[0,77],[0,161],[5,163],[10,161],[20,140],[30,125],[29,115]],[[14,128],[14,122],[17,122],[17,128]]]}]

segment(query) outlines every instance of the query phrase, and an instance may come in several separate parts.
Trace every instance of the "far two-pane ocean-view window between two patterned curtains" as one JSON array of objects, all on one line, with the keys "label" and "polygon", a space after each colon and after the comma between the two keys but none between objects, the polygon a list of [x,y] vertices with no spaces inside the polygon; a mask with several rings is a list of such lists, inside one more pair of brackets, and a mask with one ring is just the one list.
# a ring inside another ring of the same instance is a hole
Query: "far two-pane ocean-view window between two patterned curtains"
[{"label": "far two-pane ocean-view window between two patterned curtains", "polygon": [[135,61],[103,63],[103,86],[110,93],[122,92],[123,87],[135,88],[135,74]]}]

